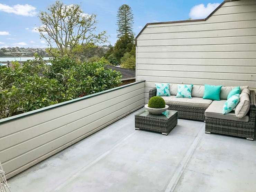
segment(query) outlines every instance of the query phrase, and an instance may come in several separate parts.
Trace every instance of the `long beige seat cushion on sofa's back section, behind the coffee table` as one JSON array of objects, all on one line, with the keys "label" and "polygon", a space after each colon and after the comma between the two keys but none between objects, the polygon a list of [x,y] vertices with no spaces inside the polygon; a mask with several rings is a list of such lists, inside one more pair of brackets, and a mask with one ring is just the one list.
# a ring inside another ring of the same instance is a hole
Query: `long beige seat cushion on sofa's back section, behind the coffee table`
[{"label": "long beige seat cushion on sofa's back section, behind the coffee table", "polygon": [[212,102],[212,100],[210,99],[203,99],[199,97],[192,97],[192,99],[189,99],[189,98],[176,98],[176,96],[171,95],[169,97],[162,96],[162,98],[165,100],[166,104],[188,106],[188,107],[207,108]]}]

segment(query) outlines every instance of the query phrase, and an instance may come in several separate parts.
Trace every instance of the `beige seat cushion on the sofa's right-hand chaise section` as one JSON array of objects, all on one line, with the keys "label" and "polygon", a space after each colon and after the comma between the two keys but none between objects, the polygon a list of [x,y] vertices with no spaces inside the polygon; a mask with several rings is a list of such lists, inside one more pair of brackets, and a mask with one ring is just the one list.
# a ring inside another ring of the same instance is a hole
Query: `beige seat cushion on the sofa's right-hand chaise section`
[{"label": "beige seat cushion on the sofa's right-hand chaise section", "polygon": [[211,117],[211,118],[217,118],[217,119],[228,119],[228,120],[243,121],[243,122],[249,121],[248,115],[246,115],[243,118],[237,118],[234,110],[228,114],[223,115],[222,109],[226,101],[227,100],[212,101],[210,106],[204,112],[205,117]]}]

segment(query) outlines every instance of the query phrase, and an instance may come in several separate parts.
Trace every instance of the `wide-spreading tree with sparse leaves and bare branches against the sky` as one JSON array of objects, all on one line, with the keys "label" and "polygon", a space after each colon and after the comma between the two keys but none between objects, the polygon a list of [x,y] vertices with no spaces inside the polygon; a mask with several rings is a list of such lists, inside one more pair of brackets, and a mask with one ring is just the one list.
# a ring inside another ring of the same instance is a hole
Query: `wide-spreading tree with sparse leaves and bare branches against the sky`
[{"label": "wide-spreading tree with sparse leaves and bare branches against the sky", "polygon": [[65,5],[60,1],[48,7],[48,12],[39,14],[42,26],[36,30],[48,43],[49,53],[56,44],[60,54],[71,54],[78,45],[107,42],[106,31],[96,34],[96,15],[86,14],[80,5]]}]

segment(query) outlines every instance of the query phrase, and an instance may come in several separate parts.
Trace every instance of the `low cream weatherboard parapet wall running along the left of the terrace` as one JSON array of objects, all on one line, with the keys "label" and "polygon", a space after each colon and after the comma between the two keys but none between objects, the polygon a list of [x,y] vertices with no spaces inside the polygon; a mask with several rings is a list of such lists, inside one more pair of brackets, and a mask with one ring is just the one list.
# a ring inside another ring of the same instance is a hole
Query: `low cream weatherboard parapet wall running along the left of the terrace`
[{"label": "low cream weatherboard parapet wall running along the left of the terrace", "polygon": [[8,118],[1,120],[0,161],[7,178],[143,107],[144,84],[131,83],[34,115],[23,113],[25,117],[6,123]]}]

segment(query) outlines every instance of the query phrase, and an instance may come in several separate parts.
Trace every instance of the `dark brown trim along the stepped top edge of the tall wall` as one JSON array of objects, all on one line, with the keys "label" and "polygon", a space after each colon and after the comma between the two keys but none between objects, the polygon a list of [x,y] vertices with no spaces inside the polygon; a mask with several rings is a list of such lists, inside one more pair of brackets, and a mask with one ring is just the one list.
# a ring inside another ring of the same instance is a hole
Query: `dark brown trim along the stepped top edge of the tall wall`
[{"label": "dark brown trim along the stepped top edge of the tall wall", "polygon": [[191,19],[191,20],[180,20],[180,21],[166,21],[166,22],[154,22],[154,23],[147,23],[143,29],[139,32],[139,34],[135,38],[135,45],[137,45],[137,38],[138,36],[142,33],[142,31],[148,26],[148,25],[156,25],[156,24],[169,24],[169,23],[181,23],[181,22],[194,22],[194,21],[206,21],[209,19],[209,17],[212,16],[214,12],[216,12],[225,2],[230,2],[230,1],[240,1],[240,0],[224,0],[216,9],[214,9],[210,15],[208,15],[205,19]]}]

